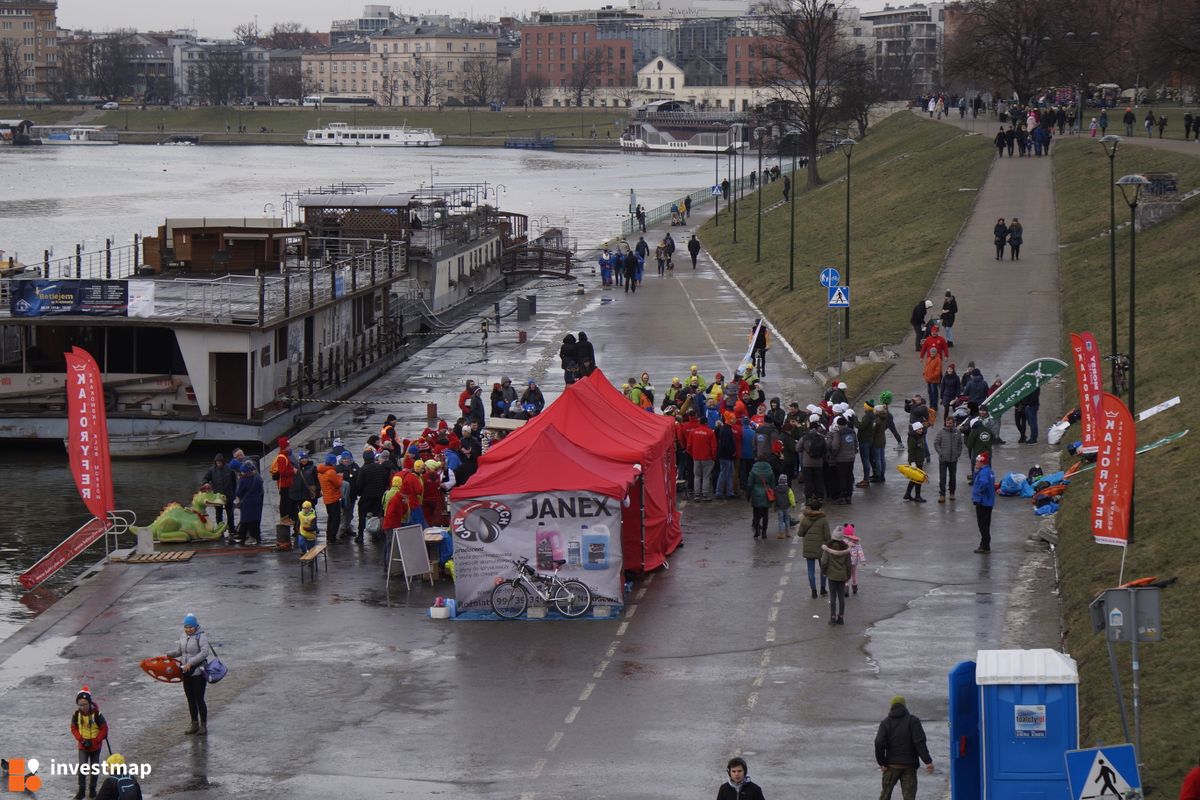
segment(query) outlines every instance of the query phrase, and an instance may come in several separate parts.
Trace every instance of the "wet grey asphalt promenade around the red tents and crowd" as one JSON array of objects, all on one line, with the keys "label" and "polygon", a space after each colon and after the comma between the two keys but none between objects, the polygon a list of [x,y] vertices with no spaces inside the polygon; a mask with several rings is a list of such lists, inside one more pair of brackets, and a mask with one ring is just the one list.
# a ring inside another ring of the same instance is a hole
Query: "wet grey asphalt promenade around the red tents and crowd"
[{"label": "wet grey asphalt promenade around the red tents and crowd", "polygon": [[[997,191],[1045,188],[1032,167],[1016,169],[1028,174]],[[986,201],[985,190],[977,212],[995,218]],[[1028,258],[1051,258],[1052,247],[1039,248],[1048,235],[1028,236]],[[980,242],[961,241],[948,273],[954,259],[971,269],[977,245],[990,247]],[[523,325],[527,344],[517,345],[506,324],[482,361],[478,335],[450,336],[370,395],[428,397],[445,413],[462,378],[486,385],[500,374],[536,377],[553,395],[558,342],[580,329],[618,384],[622,373],[647,369],[661,392],[692,362],[706,375],[730,374],[754,312],[707,257],[696,272],[676,272],[647,276],[636,296],[600,291],[590,278],[582,296],[574,285],[540,290],[539,314]],[[955,289],[960,305],[986,295],[997,311],[1008,291]],[[1026,302],[1024,293],[1012,302]],[[1009,332],[1000,324],[972,332],[970,319],[965,311],[955,355],[1024,362],[1056,342],[1057,330],[1024,321]],[[768,362],[768,395],[815,399],[818,389],[780,350]],[[898,397],[919,389],[908,361],[887,378]],[[424,423],[424,404],[396,409],[412,428]],[[343,431],[356,449],[379,425],[355,429],[344,419],[314,428]],[[1026,456],[1008,451],[1015,447],[997,452],[997,473]],[[947,670],[978,648],[1052,646],[1054,626],[1044,622],[1056,620],[1056,607],[1048,596],[1020,600],[1048,570],[1021,543],[1033,528],[1026,509],[997,509],[994,554],[980,559],[971,553],[965,488],[954,504],[925,506],[901,503],[902,489],[889,480],[830,510],[832,522],[856,523],[869,559],[845,626],[826,624],[828,607],[809,596],[798,542],[774,539],[774,518],[770,539],[750,539],[744,501],[685,506],[685,547],[670,569],[635,585],[614,620],[433,621],[425,608],[451,594],[450,584],[394,585],[389,597],[382,547],[370,545],[332,546],[329,573],[304,585],[294,554],[109,566],[0,644],[2,752],[73,760],[71,702],[86,682],[114,746],[152,764],[148,796],[712,796],[725,760],[739,752],[767,796],[851,800],[877,792],[871,741],[888,699],[901,693],[925,720],[938,765],[935,776],[923,774],[922,796],[941,796]],[[1025,619],[1014,620],[1015,607]],[[230,667],[210,687],[206,739],[182,735],[180,687],[155,684],[136,666],[175,642],[186,610]],[[67,795],[73,778],[47,783],[46,796]]]}]

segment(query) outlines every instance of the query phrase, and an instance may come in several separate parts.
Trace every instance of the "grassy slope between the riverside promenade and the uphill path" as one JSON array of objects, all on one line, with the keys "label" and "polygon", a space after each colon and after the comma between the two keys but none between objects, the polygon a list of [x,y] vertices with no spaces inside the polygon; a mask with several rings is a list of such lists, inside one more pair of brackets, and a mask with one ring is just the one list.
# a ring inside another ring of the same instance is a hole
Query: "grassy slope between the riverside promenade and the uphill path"
[{"label": "grassy slope between the riverside promenade and the uphill path", "polygon": [[[988,142],[912,114],[893,114],[854,148],[851,172],[851,337],[844,356],[880,343],[900,342],[910,330],[913,306],[928,295],[947,248],[966,218],[991,161]],[[755,263],[758,200],[738,203],[738,243],[731,217],[708,222],[700,239],[730,276],[800,351],[810,367],[832,363],[827,344],[827,290],[823,266],[845,270],[846,160],[821,160],[827,182],[796,197],[796,290],[788,282],[786,204],[763,211],[762,263]],[[781,184],[762,191],[763,207],[781,198]]]}]

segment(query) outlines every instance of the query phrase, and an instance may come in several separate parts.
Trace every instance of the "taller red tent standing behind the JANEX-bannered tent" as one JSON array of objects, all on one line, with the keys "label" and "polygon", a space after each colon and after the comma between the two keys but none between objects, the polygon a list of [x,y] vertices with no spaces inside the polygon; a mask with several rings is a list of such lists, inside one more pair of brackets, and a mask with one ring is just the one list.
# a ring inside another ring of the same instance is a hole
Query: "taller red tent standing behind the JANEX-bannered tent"
[{"label": "taller red tent standing behind the JANEX-bannered tent", "polygon": [[[661,566],[683,540],[676,511],[674,422],[635,407],[596,369],[568,386],[562,397],[518,431],[492,445],[480,458],[480,471],[492,461],[511,462],[512,453],[523,453],[550,429],[574,445],[572,461],[590,453],[642,465],[641,491],[635,488],[630,497],[630,507],[641,506],[642,513],[625,515],[622,523],[625,569],[649,571]],[[570,462],[558,469],[570,469]],[[512,465],[509,470],[517,477],[522,471]],[[468,487],[474,488],[476,479],[472,477]],[[644,523],[638,517],[644,517]]]}]

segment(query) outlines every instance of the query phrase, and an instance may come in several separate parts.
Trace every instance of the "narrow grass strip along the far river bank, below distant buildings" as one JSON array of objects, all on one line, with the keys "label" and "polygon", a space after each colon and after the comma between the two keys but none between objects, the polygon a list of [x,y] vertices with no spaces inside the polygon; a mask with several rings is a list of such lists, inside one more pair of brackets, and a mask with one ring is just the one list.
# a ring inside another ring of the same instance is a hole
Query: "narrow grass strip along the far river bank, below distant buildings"
[{"label": "narrow grass strip along the far river bank, below distant buildings", "polygon": [[[92,110],[79,106],[50,109],[2,108],[0,118],[18,116],[38,124],[56,124]],[[116,112],[97,112],[89,125],[109,125],[119,130],[157,131],[164,133],[224,133],[226,126],[236,132],[245,126],[247,133],[268,128],[275,133],[304,136],[310,128],[330,122],[356,122],[358,125],[402,125],[433,128],[443,136],[504,136],[532,137],[535,131],[542,136],[562,138],[590,138],[595,127],[596,137],[612,139],[620,136],[628,113],[606,108],[541,108],[488,112],[485,109],[445,108],[440,112],[415,108],[156,108],[140,110],[136,107]],[[616,124],[614,124],[616,122]]]}]

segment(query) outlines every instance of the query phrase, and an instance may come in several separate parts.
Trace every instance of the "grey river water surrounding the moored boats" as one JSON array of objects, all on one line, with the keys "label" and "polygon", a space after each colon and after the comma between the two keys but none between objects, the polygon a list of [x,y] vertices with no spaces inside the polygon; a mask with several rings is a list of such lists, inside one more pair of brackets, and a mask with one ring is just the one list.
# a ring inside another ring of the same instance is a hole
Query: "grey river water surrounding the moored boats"
[{"label": "grey river water surrounding the moored boats", "polygon": [[[713,162],[695,156],[478,148],[331,150],[282,146],[42,146],[0,149],[0,249],[38,263],[152,235],[167,217],[278,216],[283,193],[338,182],[374,192],[437,184],[499,185],[499,206],[539,227],[570,230],[580,249],[619,231],[629,191],[647,209],[708,186]],[[268,205],[270,204],[270,205]],[[265,210],[265,212],[264,212]],[[170,500],[186,503],[210,451],[154,462],[114,462],[118,506],[146,524]],[[181,488],[182,487],[182,488]],[[0,587],[86,521],[61,447],[0,444]],[[0,640],[59,596],[102,555],[98,545],[24,596],[0,589]],[[24,601],[24,602],[23,602]]]}]

